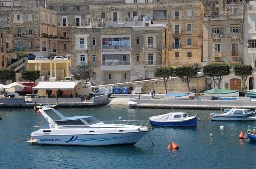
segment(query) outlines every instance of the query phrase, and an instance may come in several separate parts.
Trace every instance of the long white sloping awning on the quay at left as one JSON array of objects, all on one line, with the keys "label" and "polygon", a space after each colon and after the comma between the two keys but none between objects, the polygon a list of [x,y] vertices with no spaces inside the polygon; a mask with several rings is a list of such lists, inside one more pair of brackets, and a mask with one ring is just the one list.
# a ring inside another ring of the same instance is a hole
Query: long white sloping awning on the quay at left
[{"label": "long white sloping awning on the quay at left", "polygon": [[72,90],[79,82],[39,82],[38,85],[32,87],[33,90]]}]

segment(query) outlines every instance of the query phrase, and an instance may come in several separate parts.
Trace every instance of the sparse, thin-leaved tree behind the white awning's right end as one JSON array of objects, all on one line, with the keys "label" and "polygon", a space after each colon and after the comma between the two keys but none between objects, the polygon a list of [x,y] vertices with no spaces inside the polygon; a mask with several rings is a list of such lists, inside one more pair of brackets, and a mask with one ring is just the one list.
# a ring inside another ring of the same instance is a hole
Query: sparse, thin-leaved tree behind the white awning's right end
[{"label": "sparse, thin-leaved tree behind the white awning's right end", "polygon": [[70,74],[76,80],[85,80],[87,83],[95,74],[93,65],[79,65],[69,67]]}]

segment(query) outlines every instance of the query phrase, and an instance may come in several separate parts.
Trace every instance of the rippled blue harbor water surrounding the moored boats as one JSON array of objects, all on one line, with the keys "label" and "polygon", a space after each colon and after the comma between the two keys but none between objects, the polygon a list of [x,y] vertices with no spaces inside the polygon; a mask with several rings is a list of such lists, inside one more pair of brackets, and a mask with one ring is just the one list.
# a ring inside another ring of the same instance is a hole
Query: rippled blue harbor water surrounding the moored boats
[{"label": "rippled blue harbor water surrounding the moored boats", "polygon": [[[173,112],[172,109],[131,109],[128,106],[59,108],[58,111],[66,117],[94,115],[101,121],[118,120],[120,116],[124,120],[148,120],[154,115]],[[0,109],[3,117],[0,120],[0,168],[255,168],[256,142],[238,137],[241,130],[245,133],[249,121],[210,121],[209,113],[220,113],[220,110],[174,111],[186,112],[189,116],[197,114],[198,118],[204,118],[203,124],[156,127],[149,132],[154,146],[148,135],[134,146],[46,146],[26,142],[34,131],[34,124],[47,124],[43,115],[33,109]],[[54,113],[50,117],[52,115]],[[179,149],[166,149],[172,141]]]}]

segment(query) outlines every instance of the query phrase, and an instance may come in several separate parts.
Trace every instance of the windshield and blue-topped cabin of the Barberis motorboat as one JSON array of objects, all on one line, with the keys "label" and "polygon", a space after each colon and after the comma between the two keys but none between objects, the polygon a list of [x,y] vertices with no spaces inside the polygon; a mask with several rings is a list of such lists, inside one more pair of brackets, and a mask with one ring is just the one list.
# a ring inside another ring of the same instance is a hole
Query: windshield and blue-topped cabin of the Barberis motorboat
[{"label": "windshield and blue-topped cabin of the Barberis motorboat", "polygon": [[90,116],[74,116],[74,117],[67,117],[61,120],[55,120],[55,123],[58,126],[76,126],[76,125],[92,125],[92,124],[104,124],[99,121],[97,118]]}]

